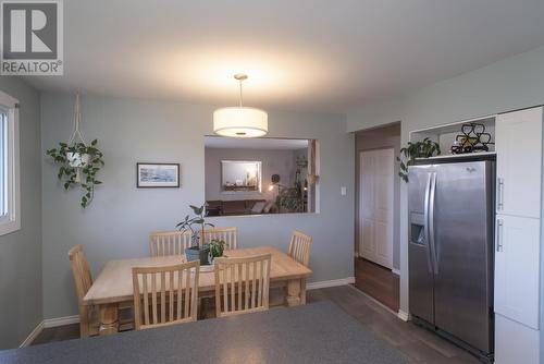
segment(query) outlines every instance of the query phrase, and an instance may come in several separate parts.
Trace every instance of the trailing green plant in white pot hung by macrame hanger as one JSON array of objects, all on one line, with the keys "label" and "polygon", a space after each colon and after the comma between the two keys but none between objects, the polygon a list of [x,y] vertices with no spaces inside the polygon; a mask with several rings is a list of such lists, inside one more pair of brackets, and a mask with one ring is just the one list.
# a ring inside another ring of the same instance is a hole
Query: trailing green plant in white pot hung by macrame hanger
[{"label": "trailing green plant in white pot hung by macrame hanger", "polygon": [[67,143],[59,143],[57,148],[47,150],[47,155],[59,165],[59,180],[64,190],[79,185],[83,190],[81,205],[86,208],[95,197],[95,186],[101,184],[96,175],[103,166],[103,154],[98,149],[98,139],[88,145],[79,130],[82,112],[79,94],[75,95],[74,130]]}]

